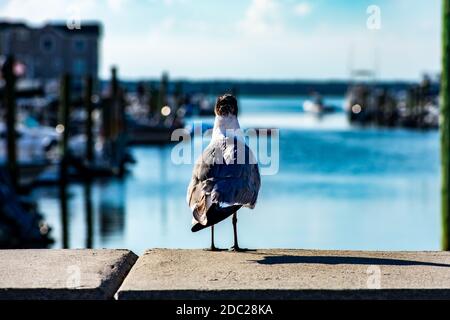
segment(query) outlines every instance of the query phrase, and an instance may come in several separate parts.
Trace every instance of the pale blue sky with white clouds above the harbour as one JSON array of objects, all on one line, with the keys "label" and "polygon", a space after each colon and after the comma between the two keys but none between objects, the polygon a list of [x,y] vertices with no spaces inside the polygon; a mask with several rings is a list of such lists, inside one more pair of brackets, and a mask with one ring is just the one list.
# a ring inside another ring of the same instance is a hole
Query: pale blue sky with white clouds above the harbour
[{"label": "pale blue sky with white clouds above the harbour", "polygon": [[[0,0],[0,17],[100,20],[101,76],[419,79],[440,65],[441,0]],[[380,9],[370,30],[368,6]]]}]

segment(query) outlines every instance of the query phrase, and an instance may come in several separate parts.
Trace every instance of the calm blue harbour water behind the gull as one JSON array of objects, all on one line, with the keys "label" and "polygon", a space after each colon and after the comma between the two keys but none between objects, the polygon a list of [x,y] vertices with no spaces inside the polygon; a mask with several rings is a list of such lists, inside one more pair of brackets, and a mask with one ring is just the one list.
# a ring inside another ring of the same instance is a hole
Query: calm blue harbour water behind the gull
[{"label": "calm blue harbour water behind the gull", "polygon": [[[341,104],[341,98],[327,100]],[[243,127],[280,128],[280,167],[262,177],[255,210],[239,211],[241,245],[251,248],[439,249],[438,132],[349,126],[344,113],[317,119],[302,98],[241,98]],[[132,149],[137,164],[123,181],[69,188],[71,248],[87,244],[91,198],[96,248],[202,248],[209,230],[191,233],[185,202],[191,165],[174,165],[171,147]],[[57,190],[36,190],[62,246]],[[216,228],[232,245],[231,220]]]}]

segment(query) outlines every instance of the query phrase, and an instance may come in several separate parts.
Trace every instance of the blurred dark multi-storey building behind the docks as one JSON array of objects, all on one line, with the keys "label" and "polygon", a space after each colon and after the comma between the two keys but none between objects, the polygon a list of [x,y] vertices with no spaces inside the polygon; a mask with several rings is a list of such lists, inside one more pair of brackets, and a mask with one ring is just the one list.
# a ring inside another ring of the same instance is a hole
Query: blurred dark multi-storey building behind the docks
[{"label": "blurred dark multi-storey building behind the docks", "polygon": [[26,66],[25,78],[57,80],[65,73],[75,79],[90,74],[98,78],[101,25],[65,24],[30,27],[24,23],[0,21],[0,56],[14,54]]}]

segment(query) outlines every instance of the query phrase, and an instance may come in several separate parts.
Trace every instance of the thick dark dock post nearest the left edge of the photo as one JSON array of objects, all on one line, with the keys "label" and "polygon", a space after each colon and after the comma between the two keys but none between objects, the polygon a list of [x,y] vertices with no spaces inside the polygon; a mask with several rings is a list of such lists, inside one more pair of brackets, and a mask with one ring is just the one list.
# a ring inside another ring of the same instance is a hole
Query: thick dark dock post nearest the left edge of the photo
[{"label": "thick dark dock post nearest the left edge of the photo", "polygon": [[5,80],[4,104],[6,109],[6,139],[8,150],[8,172],[11,187],[17,190],[19,186],[19,168],[16,149],[16,75],[14,74],[14,56],[9,56],[3,65]]}]

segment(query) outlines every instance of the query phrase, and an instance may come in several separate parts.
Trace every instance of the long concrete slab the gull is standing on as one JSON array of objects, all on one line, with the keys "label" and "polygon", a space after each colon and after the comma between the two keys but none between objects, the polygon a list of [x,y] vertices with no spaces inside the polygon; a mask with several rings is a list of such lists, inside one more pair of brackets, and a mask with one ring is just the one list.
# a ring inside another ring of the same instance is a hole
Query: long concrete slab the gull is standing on
[{"label": "long concrete slab the gull is standing on", "polygon": [[450,298],[450,252],[147,251],[117,299]]}]

